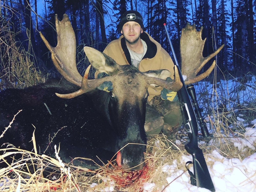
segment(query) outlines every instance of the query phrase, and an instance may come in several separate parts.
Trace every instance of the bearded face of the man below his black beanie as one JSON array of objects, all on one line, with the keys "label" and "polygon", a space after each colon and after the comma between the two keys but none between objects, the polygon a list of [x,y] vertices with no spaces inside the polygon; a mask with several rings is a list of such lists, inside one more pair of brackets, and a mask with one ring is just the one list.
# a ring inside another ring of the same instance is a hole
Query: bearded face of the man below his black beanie
[{"label": "bearded face of the man below his black beanie", "polygon": [[141,28],[140,24],[135,21],[128,21],[124,23],[121,30],[121,34],[124,35],[126,42],[132,45],[138,42],[140,34],[142,33],[143,29]]}]

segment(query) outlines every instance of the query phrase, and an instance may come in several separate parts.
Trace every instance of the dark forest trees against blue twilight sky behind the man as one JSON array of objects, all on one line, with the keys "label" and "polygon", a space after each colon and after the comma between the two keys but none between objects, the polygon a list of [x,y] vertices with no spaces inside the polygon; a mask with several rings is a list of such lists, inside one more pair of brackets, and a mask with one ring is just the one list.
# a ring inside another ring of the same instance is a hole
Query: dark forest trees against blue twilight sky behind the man
[{"label": "dark forest trees against blue twilight sky behind the man", "polygon": [[[47,73],[54,67],[39,31],[53,46],[57,44],[55,14],[59,19],[64,13],[68,14],[76,34],[77,62],[84,63],[84,46],[103,51],[110,41],[121,35],[117,26],[126,10],[139,11],[146,31],[171,54],[163,26],[166,22],[178,58],[181,29],[190,23],[198,30],[204,27],[205,56],[225,44],[218,54],[218,74],[241,77],[256,73],[256,0],[0,0],[0,7],[0,26],[9,28],[15,42],[30,50],[33,65]],[[0,30],[0,37],[5,31]],[[4,58],[2,55],[2,63]]]}]

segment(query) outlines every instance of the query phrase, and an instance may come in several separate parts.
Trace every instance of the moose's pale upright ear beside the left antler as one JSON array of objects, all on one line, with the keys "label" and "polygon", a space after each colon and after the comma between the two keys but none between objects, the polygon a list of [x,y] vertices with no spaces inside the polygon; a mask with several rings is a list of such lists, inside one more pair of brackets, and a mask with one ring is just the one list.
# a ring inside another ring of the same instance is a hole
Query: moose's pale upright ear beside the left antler
[{"label": "moose's pale upright ear beside the left antler", "polygon": [[89,59],[91,65],[99,71],[99,73],[111,74],[117,67],[117,63],[106,54],[92,48],[85,46],[84,52]]}]

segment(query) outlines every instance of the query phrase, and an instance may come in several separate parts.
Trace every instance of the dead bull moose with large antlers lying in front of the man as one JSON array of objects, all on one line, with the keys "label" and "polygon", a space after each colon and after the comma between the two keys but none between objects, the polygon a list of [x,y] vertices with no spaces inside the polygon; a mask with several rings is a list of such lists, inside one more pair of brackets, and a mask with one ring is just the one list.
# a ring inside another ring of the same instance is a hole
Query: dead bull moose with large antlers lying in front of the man
[{"label": "dead bull moose with large antlers lying in front of the man", "polygon": [[[37,151],[54,156],[54,145],[60,145],[59,155],[65,163],[95,169],[98,167],[95,163],[107,163],[121,149],[117,156],[123,169],[142,169],[147,143],[144,130],[147,88],[157,85],[178,91],[182,86],[179,76],[167,81],[168,70],[141,73],[133,66],[119,66],[106,54],[84,47],[91,65],[100,73],[109,75],[88,79],[90,67],[84,76],[76,68],[75,34],[68,16],[64,14],[59,21],[55,15],[55,23],[57,46],[52,47],[42,34],[41,37],[51,51],[55,67],[68,82],[52,80],[24,90],[1,92],[1,131],[22,109],[4,137],[0,138],[2,148],[12,143],[15,147],[33,150],[30,141],[35,131]],[[186,71],[187,82],[193,82],[193,79],[201,81],[211,70],[200,77],[196,77],[199,70],[194,76]],[[178,74],[176,68],[174,71]]]}]

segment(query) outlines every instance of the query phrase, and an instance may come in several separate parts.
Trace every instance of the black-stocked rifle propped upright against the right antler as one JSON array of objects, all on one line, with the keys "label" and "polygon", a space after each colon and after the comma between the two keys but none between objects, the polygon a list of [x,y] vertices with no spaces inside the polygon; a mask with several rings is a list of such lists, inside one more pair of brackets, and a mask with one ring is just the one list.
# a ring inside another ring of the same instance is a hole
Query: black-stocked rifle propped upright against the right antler
[{"label": "black-stocked rifle propped upright against the right antler", "polygon": [[[211,179],[211,175],[209,173],[209,170],[207,168],[207,164],[205,162],[204,154],[202,149],[198,147],[198,124],[196,119],[196,114],[193,108],[193,105],[191,103],[191,100],[189,98],[188,91],[186,89],[184,79],[181,74],[181,70],[178,64],[178,60],[176,58],[172,42],[170,39],[170,36],[167,31],[166,23],[164,23],[165,31],[167,34],[168,41],[171,46],[173,58],[174,58],[174,65],[177,66],[179,71],[180,80],[182,83],[182,88],[178,91],[178,97],[181,103],[181,109],[183,111],[184,117],[185,117],[185,130],[188,133],[189,142],[185,145],[185,149],[188,151],[189,154],[193,156],[193,168],[194,168],[194,174],[188,169],[190,174],[190,182],[192,185],[197,187],[203,187],[206,189],[209,189],[211,191],[215,191],[215,188],[213,186],[213,182]],[[186,164],[190,164],[192,162],[187,162]]]}]

